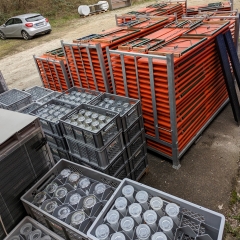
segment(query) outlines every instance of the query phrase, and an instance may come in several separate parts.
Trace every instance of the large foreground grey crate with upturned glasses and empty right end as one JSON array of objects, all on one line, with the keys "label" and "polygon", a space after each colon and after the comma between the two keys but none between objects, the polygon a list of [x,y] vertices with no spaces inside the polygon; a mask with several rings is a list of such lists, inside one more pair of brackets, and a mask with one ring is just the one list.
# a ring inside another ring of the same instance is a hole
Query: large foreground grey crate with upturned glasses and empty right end
[{"label": "large foreground grey crate with upturned glasses and empty right end", "polygon": [[91,240],[101,236],[130,240],[222,240],[224,224],[222,214],[124,179],[87,235]]}]

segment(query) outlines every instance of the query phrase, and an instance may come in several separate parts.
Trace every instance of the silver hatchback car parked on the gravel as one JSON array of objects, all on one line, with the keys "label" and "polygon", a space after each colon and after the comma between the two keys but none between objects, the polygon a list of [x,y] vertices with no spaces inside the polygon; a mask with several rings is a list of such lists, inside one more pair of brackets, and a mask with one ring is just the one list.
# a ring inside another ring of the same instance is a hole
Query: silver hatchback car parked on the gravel
[{"label": "silver hatchback car parked on the gravel", "polygon": [[29,40],[39,34],[52,31],[47,18],[38,13],[29,13],[12,17],[0,26],[0,38],[24,38]]}]

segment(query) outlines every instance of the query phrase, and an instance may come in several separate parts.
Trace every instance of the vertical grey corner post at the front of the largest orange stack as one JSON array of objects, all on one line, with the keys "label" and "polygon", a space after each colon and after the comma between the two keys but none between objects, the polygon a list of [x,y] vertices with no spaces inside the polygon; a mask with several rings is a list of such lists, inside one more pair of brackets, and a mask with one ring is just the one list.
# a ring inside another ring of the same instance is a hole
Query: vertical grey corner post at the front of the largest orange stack
[{"label": "vertical grey corner post at the front of the largest orange stack", "polygon": [[170,107],[170,123],[172,136],[172,161],[173,168],[181,167],[178,156],[178,134],[177,134],[177,112],[176,112],[176,96],[175,96],[175,80],[174,80],[174,61],[173,54],[167,57],[167,74],[168,74],[168,96]]}]

